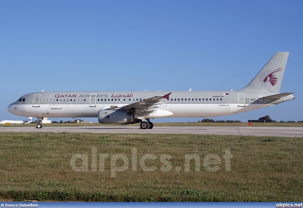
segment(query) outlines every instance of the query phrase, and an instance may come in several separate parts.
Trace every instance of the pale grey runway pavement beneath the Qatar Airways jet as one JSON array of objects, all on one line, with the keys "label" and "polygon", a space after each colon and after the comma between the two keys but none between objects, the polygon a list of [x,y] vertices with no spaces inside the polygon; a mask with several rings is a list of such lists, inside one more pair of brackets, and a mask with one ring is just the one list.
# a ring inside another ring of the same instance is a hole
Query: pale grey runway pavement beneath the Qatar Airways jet
[{"label": "pale grey runway pavement beneath the Qatar Airways jet", "polygon": [[93,132],[93,133],[154,133],[154,134],[216,134],[303,137],[303,127],[259,127],[259,126],[154,126],[139,129],[135,126],[65,126],[43,128],[0,127],[0,132]]}]

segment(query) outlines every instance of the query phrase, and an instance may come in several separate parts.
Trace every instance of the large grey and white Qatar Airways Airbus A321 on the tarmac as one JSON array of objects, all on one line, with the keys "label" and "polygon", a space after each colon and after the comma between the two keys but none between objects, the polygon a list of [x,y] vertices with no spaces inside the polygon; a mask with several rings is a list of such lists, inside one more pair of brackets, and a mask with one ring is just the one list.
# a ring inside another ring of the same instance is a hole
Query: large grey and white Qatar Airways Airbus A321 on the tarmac
[{"label": "large grey and white Qatar Airways Airbus A321 on the tarmac", "polygon": [[36,92],[22,96],[7,108],[21,116],[98,117],[102,124],[140,123],[153,128],[150,119],[213,117],[247,112],[295,99],[279,93],[289,52],[277,52],[243,89],[236,91],[97,91]]}]

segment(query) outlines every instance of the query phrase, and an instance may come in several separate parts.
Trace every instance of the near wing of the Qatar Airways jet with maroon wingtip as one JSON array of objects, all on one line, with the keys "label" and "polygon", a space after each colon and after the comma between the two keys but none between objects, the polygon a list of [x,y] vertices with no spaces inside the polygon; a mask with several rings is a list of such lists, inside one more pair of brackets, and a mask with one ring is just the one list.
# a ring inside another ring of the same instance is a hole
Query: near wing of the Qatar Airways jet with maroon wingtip
[{"label": "near wing of the Qatar Airways jet with maroon wingtip", "polygon": [[160,102],[160,101],[165,99],[165,98],[169,99],[170,94],[171,93],[168,93],[168,94],[163,95],[163,96],[155,96],[155,97],[151,97],[151,98],[148,98],[148,99],[145,99],[145,100],[134,102],[132,104],[123,106],[120,109],[135,109],[136,111],[143,112],[143,111],[147,110],[148,108],[151,108],[151,106],[164,104],[163,102]]}]

